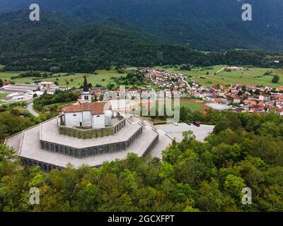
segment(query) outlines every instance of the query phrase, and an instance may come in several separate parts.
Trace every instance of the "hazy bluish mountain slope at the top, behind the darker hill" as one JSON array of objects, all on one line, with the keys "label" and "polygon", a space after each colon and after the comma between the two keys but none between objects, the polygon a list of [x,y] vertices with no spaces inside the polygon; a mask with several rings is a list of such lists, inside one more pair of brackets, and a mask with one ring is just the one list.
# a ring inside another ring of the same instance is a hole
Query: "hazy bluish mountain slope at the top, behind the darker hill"
[{"label": "hazy bluish mountain slope at the top, behind the darker hill", "polygon": [[[32,0],[0,0],[1,11]],[[241,20],[241,0],[37,0],[40,8],[84,22],[118,18],[192,48],[283,51],[283,0],[250,0],[253,21]]]}]

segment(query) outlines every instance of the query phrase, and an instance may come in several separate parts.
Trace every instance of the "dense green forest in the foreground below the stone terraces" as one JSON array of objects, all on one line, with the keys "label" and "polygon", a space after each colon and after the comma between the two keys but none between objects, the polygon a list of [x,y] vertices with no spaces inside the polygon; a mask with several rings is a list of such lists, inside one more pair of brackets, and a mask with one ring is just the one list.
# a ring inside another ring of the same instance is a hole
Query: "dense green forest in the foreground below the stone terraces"
[{"label": "dense green forest in the foreground below the stone terraces", "polygon": [[[7,114],[7,112],[1,113]],[[45,173],[23,167],[0,145],[1,211],[283,211],[283,119],[275,113],[213,114],[204,142],[190,131],[163,151],[141,158]],[[1,117],[0,117],[1,121]],[[243,205],[244,187],[253,192]],[[31,187],[40,204],[29,204]]]}]

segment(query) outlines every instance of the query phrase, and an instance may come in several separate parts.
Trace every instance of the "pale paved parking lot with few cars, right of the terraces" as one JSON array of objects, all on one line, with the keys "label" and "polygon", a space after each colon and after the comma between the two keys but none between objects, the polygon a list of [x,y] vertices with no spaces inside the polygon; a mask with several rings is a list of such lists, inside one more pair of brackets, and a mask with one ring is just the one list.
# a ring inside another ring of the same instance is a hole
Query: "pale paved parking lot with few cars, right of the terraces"
[{"label": "pale paved parking lot with few cars, right of the terraces", "polygon": [[212,125],[200,125],[200,127],[197,127],[195,125],[188,125],[185,123],[180,123],[178,126],[175,126],[173,124],[165,124],[165,125],[156,125],[156,129],[162,130],[165,133],[168,134],[168,136],[171,136],[171,138],[175,138],[176,141],[182,141],[183,131],[192,131],[197,141],[204,141],[204,138],[206,138],[209,133],[211,133],[214,129],[214,126]]}]

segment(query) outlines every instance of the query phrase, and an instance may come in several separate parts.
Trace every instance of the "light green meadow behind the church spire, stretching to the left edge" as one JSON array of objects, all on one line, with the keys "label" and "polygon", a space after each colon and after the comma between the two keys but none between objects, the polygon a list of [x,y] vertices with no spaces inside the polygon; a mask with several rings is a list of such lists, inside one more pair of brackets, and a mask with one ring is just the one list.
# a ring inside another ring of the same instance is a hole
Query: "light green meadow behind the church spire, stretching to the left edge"
[{"label": "light green meadow behind the church spire, stretching to the left edge", "polygon": [[[65,86],[67,85],[67,82],[69,83],[69,87],[76,87],[79,88],[83,84],[83,76],[85,75],[84,73],[74,73],[69,76],[64,76],[66,73],[55,73],[51,78],[35,78],[35,77],[28,77],[28,78],[16,78],[11,80],[11,77],[13,76],[18,76],[21,72],[1,72],[0,73],[0,78],[2,80],[8,80],[8,81],[13,81],[15,83],[34,83],[35,80],[37,81],[47,81],[47,82],[55,82],[57,81],[59,85]],[[108,83],[115,83],[111,78],[112,77],[120,77],[120,76],[125,76],[125,74],[119,74],[115,70],[98,70],[97,75],[92,74],[92,73],[86,73],[88,83],[91,83],[92,85],[103,85],[106,86]],[[61,77],[57,77],[61,75]]]}]

